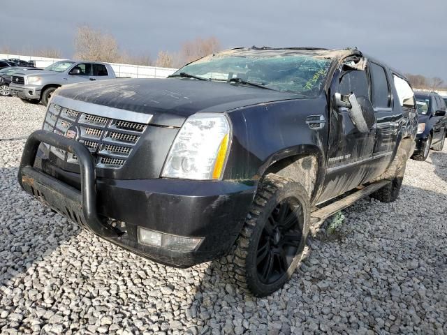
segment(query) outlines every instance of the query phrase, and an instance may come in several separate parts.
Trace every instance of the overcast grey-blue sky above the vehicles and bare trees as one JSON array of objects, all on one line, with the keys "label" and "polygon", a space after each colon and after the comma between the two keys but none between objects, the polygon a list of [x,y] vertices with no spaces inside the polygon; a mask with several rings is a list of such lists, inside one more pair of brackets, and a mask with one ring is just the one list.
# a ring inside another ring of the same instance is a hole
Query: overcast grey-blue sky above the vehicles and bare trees
[{"label": "overcast grey-blue sky above the vehicles and bare trees", "polygon": [[358,47],[404,73],[447,82],[447,1],[2,1],[0,47],[53,47],[73,56],[76,27],[115,36],[131,54],[175,52],[215,36],[236,46]]}]

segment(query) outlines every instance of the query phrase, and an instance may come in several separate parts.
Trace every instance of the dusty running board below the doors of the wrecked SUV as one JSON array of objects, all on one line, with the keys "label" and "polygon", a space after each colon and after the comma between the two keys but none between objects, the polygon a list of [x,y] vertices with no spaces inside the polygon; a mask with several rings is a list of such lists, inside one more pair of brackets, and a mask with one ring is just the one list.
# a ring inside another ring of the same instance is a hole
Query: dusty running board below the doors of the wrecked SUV
[{"label": "dusty running board below the doors of the wrecked SUV", "polygon": [[321,225],[321,223],[323,223],[323,221],[325,221],[325,219],[328,218],[329,216],[332,216],[333,214],[337,213],[337,211],[341,211],[342,209],[349,207],[357,200],[365,198],[367,195],[374,193],[375,191],[379,190],[379,188],[382,188],[389,182],[390,181],[386,180],[377,181],[374,184],[361,188],[360,190],[351,193],[350,195],[347,195],[346,198],[337,200],[335,202],[332,202],[332,204],[328,204],[328,206],[321,207],[316,211],[313,211],[310,214],[311,227],[318,228],[318,226]]}]

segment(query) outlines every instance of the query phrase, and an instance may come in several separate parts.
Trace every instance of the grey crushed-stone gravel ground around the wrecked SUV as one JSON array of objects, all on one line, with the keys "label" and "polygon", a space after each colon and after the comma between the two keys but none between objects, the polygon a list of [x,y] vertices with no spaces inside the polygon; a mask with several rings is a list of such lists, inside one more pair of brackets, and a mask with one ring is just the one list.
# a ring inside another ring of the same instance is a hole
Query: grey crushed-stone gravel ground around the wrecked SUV
[{"label": "grey crushed-stone gravel ground around the wrecked SUV", "polygon": [[[44,108],[0,98],[0,138]],[[447,151],[409,161],[400,198],[360,200],[270,297],[224,262],[158,265],[102,241],[20,191],[24,140],[0,141],[1,334],[447,334]]]}]

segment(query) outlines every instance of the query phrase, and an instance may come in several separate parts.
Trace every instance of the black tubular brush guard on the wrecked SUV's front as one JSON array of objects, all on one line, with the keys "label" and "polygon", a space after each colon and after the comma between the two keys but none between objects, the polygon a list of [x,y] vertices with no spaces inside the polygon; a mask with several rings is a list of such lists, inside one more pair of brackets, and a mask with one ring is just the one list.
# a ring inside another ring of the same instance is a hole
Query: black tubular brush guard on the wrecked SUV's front
[{"label": "black tubular brush guard on the wrecked SUV's front", "polygon": [[[64,149],[77,156],[80,165],[81,191],[34,168],[34,161],[41,143]],[[23,150],[18,179],[24,191],[34,195],[67,218],[71,218],[83,228],[101,237],[119,237],[118,230],[103,223],[98,217],[93,157],[80,142],[49,131],[31,133]]]}]

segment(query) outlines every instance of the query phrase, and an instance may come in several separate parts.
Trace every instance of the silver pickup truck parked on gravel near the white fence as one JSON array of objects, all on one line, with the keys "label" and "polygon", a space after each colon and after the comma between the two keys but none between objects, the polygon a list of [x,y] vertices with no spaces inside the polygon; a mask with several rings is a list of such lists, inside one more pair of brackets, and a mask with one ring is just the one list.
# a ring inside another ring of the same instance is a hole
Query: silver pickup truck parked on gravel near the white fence
[{"label": "silver pickup truck parked on gravel near the white fence", "polygon": [[58,61],[41,73],[14,73],[10,94],[31,103],[47,105],[54,91],[65,84],[114,79],[110,64],[96,61]]}]

